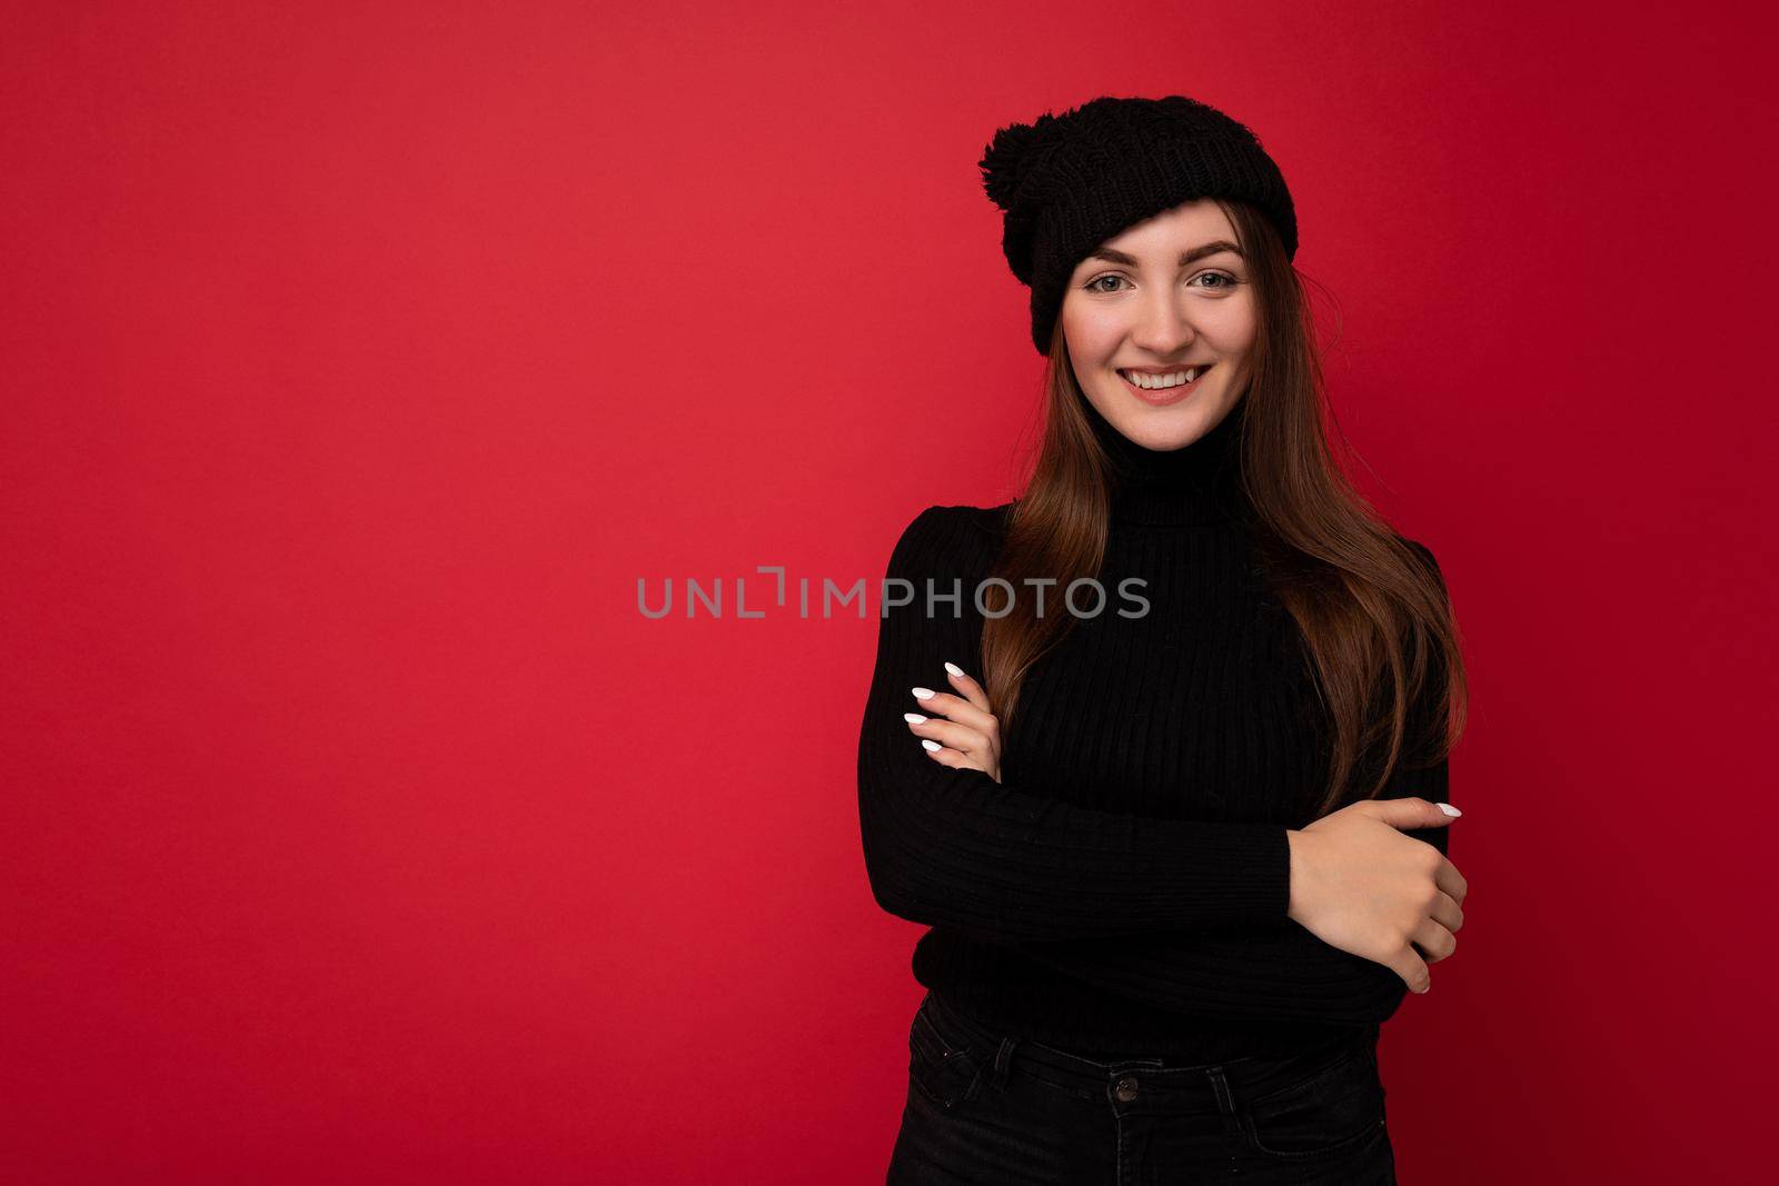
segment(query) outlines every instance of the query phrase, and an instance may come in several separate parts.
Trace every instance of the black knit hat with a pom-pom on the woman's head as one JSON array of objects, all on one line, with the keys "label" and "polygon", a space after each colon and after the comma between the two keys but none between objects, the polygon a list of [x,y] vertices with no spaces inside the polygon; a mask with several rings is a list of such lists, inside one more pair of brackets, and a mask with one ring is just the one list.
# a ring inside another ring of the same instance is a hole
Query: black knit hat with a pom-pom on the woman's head
[{"label": "black knit hat with a pom-pom on the woman's head", "polygon": [[1297,212],[1260,137],[1215,107],[1171,94],[1103,96],[994,133],[978,162],[1000,206],[1002,251],[1032,288],[1032,341],[1050,354],[1062,288],[1087,252],[1128,226],[1201,197],[1265,213],[1297,256]]}]

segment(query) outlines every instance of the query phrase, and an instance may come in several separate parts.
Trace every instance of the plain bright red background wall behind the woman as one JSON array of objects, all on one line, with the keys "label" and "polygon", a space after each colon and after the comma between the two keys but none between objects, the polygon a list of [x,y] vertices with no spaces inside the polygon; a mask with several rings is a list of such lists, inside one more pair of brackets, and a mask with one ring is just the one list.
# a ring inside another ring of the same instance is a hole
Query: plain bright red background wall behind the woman
[{"label": "plain bright red background wall behind the woman", "polygon": [[[4,1161],[881,1181],[877,578],[1039,357],[975,160],[1249,123],[1468,635],[1409,1182],[1761,1145],[1772,69],[1754,5],[36,5],[4,87]],[[761,605],[758,587],[751,603]],[[1752,1161],[1751,1161],[1752,1163]]]}]

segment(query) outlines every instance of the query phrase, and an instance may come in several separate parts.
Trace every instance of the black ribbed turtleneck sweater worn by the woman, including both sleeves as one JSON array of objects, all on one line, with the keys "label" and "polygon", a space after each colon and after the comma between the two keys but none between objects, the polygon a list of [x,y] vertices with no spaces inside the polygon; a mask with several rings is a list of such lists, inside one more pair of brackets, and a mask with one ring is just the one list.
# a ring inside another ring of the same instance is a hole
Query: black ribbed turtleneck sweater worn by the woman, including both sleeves
[{"label": "black ribbed turtleneck sweater worn by the woman, including both sleeves", "polygon": [[[925,711],[914,686],[950,690],[946,661],[980,677],[975,587],[1010,503],[929,507],[897,541],[886,576],[914,599],[884,606],[859,736],[872,893],[930,928],[922,985],[1062,1049],[1222,1060],[1377,1026],[1402,980],[1286,916],[1286,829],[1315,818],[1332,727],[1258,569],[1240,418],[1155,452],[1087,414],[1121,475],[1108,601],[1026,674],[1000,782],[927,757],[902,713]],[[1147,581],[1142,617],[1117,613],[1140,608],[1119,592],[1131,576]],[[929,615],[929,580],[961,596]],[[1046,590],[1046,613],[1059,596]],[[1429,709],[1423,697],[1411,727]],[[1384,797],[1446,793],[1441,761],[1398,765]],[[1409,836],[1446,852],[1446,832]]]}]

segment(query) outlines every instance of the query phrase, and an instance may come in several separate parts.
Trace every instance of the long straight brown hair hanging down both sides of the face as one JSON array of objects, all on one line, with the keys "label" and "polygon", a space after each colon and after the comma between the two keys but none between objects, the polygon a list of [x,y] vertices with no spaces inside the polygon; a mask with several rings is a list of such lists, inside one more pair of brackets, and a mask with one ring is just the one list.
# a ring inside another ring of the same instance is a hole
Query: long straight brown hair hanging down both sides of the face
[{"label": "long straight brown hair hanging down both sides of the face", "polygon": [[[1252,206],[1217,204],[1235,226],[1258,304],[1249,388],[1228,413],[1245,418],[1242,480],[1256,512],[1258,557],[1302,631],[1316,693],[1334,725],[1320,816],[1352,798],[1373,798],[1398,761],[1421,768],[1450,752],[1468,713],[1461,638],[1430,557],[1382,521],[1331,453],[1327,423],[1334,418],[1309,302],[1277,231]],[[1014,589],[1028,576],[1055,578],[1062,590],[1099,574],[1112,471],[1085,400],[1059,317],[1044,373],[1044,437],[993,571]],[[1073,615],[1037,617],[1032,597],[986,589],[991,608],[1003,610],[984,622],[982,672],[1005,734],[1019,685],[1062,640]],[[1411,706],[1429,685],[1436,685],[1436,711],[1416,729]],[[1366,761],[1379,745],[1384,761]],[[1352,793],[1361,766],[1377,773]]]}]

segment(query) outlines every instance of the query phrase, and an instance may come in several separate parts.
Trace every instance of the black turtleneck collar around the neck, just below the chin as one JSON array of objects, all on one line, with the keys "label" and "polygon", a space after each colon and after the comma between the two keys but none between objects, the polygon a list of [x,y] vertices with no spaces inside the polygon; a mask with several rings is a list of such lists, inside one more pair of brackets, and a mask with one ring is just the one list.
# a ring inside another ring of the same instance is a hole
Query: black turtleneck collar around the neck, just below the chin
[{"label": "black turtleneck collar around the neck, just below the chin", "polygon": [[1236,405],[1192,445],[1151,450],[1082,402],[1101,448],[1112,457],[1112,523],[1194,526],[1245,517],[1242,493],[1242,407]]}]

